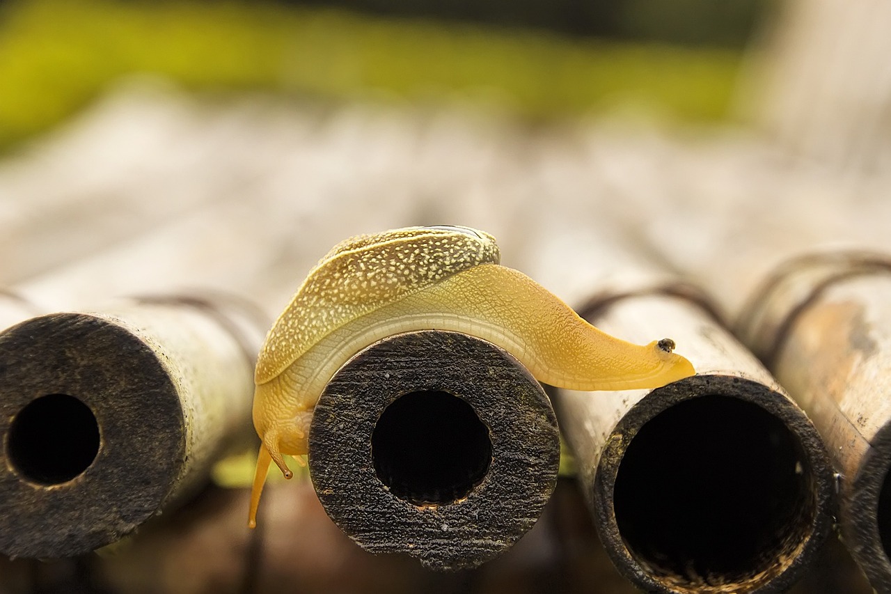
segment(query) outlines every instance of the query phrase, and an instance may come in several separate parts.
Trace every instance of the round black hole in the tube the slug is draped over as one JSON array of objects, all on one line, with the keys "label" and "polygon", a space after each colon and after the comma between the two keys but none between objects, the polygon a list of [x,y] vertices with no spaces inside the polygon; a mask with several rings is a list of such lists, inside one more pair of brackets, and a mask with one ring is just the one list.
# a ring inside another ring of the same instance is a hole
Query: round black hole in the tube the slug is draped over
[{"label": "round black hole in the tube the slug is draped over", "polygon": [[374,470],[399,499],[415,505],[462,499],[492,460],[486,425],[464,400],[412,392],[390,404],[372,433]]}]

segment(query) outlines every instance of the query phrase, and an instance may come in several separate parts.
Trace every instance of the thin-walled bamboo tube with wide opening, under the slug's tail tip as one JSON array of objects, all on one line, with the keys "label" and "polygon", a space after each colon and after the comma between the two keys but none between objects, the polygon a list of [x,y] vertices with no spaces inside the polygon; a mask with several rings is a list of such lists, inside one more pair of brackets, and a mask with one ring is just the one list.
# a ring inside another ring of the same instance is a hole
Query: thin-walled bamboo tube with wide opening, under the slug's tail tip
[{"label": "thin-walled bamboo tube with wide opening, under the slug's tail tip", "polygon": [[669,336],[697,375],[651,391],[555,394],[594,523],[652,592],[781,591],[830,533],[829,457],[803,411],[698,302],[635,293],[587,316]]}]

